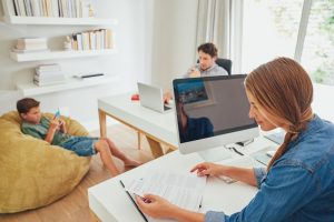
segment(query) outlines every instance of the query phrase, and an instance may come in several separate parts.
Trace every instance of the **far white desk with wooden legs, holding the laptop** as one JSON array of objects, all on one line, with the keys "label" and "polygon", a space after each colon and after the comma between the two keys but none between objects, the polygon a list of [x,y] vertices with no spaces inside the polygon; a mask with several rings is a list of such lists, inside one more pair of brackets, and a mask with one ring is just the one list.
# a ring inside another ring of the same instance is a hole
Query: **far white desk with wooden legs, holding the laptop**
[{"label": "far white desk with wooden legs, holding the laptop", "polygon": [[138,131],[138,147],[140,134],[145,134],[155,158],[164,154],[160,143],[173,150],[177,149],[177,134],[174,111],[159,113],[143,108],[139,101],[131,101],[131,94],[121,94],[98,99],[100,134],[107,135],[106,117],[109,115]]}]

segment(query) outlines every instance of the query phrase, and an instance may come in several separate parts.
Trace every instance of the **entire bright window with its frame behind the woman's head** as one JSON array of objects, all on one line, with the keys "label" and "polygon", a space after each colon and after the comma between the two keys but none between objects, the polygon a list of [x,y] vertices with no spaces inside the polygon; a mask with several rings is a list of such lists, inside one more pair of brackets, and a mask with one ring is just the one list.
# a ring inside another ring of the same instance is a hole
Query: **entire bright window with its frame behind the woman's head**
[{"label": "entire bright window with its frame behind the woman's head", "polygon": [[234,72],[248,73],[276,57],[301,60],[314,82],[314,112],[334,122],[334,1],[233,2]]}]

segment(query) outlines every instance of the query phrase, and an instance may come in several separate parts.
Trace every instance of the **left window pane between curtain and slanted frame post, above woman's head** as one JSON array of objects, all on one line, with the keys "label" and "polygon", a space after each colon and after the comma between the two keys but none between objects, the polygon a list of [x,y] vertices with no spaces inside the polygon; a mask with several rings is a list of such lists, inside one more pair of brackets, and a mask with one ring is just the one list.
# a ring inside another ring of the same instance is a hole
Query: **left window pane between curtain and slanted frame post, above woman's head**
[{"label": "left window pane between curtain and slanted frame post, above woman's head", "polygon": [[243,1],[240,71],[277,57],[294,58],[303,0]]}]

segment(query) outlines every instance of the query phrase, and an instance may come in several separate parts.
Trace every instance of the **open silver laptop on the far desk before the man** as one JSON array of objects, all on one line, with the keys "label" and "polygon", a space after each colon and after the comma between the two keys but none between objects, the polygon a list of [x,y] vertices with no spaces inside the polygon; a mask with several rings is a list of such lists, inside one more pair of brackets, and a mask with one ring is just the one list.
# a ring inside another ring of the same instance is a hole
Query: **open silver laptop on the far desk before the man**
[{"label": "open silver laptop on the far desk before the man", "polygon": [[163,89],[141,82],[138,82],[137,84],[139,100],[143,107],[161,113],[171,111],[171,107],[164,103]]}]

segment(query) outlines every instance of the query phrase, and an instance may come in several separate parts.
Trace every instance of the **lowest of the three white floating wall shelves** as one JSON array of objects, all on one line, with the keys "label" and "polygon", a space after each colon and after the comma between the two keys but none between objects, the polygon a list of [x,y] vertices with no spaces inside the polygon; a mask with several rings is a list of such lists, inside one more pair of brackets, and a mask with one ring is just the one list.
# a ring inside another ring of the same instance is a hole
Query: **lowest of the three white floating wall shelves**
[{"label": "lowest of the three white floating wall shelves", "polygon": [[51,92],[59,92],[66,90],[73,90],[79,88],[94,87],[99,84],[107,84],[117,81],[118,77],[95,77],[87,79],[69,78],[65,83],[38,87],[32,82],[17,83],[17,89],[20,90],[23,97],[32,97],[38,94],[47,94]]}]

